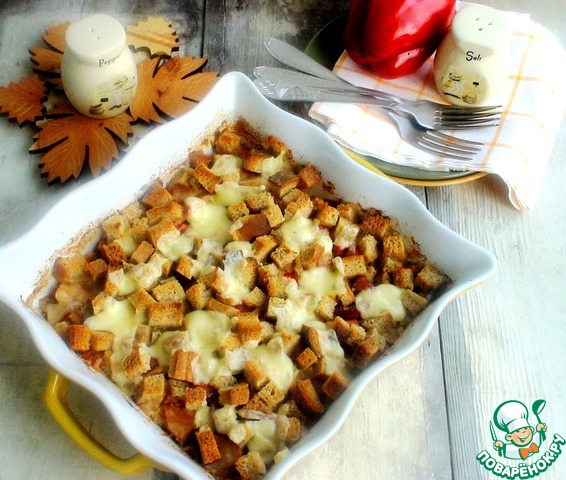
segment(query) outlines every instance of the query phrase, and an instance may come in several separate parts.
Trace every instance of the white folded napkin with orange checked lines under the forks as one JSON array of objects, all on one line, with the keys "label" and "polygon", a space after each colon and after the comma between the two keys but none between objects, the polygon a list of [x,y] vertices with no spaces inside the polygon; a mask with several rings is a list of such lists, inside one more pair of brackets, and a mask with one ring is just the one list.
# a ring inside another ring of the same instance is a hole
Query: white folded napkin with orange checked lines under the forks
[{"label": "white folded napkin with orange checked lines under the forks", "polygon": [[[458,2],[458,8],[464,5]],[[519,210],[532,208],[566,108],[566,52],[528,15],[505,14],[513,36],[510,75],[500,95],[502,121],[495,128],[452,132],[486,145],[473,161],[447,159],[411,147],[375,106],[319,102],[311,107],[310,117],[325,125],[338,143],[362,155],[430,170],[495,173],[508,185],[513,206]],[[434,85],[432,58],[414,74],[386,80],[363,70],[344,52],[334,72],[355,85],[411,100],[446,103]]]}]

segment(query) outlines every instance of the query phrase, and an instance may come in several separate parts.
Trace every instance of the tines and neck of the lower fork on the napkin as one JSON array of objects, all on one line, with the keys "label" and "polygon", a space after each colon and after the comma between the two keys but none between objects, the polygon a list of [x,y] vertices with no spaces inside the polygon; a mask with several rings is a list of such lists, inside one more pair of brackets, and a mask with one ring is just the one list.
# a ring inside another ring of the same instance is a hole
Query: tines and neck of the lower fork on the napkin
[{"label": "tines and neck of the lower fork on the napkin", "polygon": [[473,157],[481,151],[482,143],[423,128],[404,112],[386,108],[385,113],[397,125],[401,138],[420,150],[441,157],[467,161],[473,160]]}]

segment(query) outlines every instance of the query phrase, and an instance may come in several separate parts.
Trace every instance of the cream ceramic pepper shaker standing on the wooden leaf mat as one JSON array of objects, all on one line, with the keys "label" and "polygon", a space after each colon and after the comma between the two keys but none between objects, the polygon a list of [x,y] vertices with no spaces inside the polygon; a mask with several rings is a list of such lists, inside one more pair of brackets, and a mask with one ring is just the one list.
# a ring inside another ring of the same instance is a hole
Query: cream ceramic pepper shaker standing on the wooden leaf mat
[{"label": "cream ceramic pepper shaker standing on the wooden leaf mat", "polygon": [[134,98],[138,76],[122,25],[104,14],[85,17],[69,25],[65,45],[61,79],[72,105],[93,118],[124,112]]}]

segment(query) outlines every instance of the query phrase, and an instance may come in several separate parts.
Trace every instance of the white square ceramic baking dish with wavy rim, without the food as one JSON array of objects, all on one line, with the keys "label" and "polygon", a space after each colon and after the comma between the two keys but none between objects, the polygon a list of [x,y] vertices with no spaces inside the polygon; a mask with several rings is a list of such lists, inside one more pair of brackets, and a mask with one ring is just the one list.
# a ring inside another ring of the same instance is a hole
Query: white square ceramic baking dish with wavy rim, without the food
[{"label": "white square ceramic baking dish with wavy rim, without the food", "polygon": [[282,478],[300,458],[329,439],[354,407],[364,386],[414,351],[446,305],[486,280],[496,268],[489,252],[442,225],[405,187],[369,172],[344,154],[318,127],[272,105],[245,75],[234,72],[223,76],[191,112],[139,140],[110,172],[69,193],[27,234],[0,249],[0,300],[25,323],[47,363],[97,396],[128,441],[153,465],[192,480],[211,477],[110,380],[87,367],[34,306],[27,306],[25,301],[73,238],[124,208],[152,181],[183,162],[187,150],[198,145],[207,133],[222,122],[237,118],[244,118],[260,133],[281,139],[299,162],[317,166],[341,197],[376,207],[392,217],[400,231],[415,237],[429,262],[451,279],[449,288],[428,304],[386,354],[352,380],[315,426],[291,448],[290,454],[268,470],[266,479]]}]

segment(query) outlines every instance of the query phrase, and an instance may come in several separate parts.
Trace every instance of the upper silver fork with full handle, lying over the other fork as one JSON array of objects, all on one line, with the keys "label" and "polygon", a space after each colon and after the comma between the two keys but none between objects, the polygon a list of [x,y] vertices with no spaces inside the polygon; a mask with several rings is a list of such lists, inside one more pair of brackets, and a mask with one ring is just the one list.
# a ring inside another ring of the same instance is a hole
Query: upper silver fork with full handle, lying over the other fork
[{"label": "upper silver fork with full handle, lying over the other fork", "polygon": [[429,129],[493,127],[501,119],[501,112],[495,110],[498,106],[459,107],[429,100],[407,100],[346,83],[339,77],[336,77],[337,80],[323,79],[272,67],[257,67],[254,75],[258,78],[256,85],[262,93],[275,100],[347,102],[389,107],[409,113],[419,124]]}]

